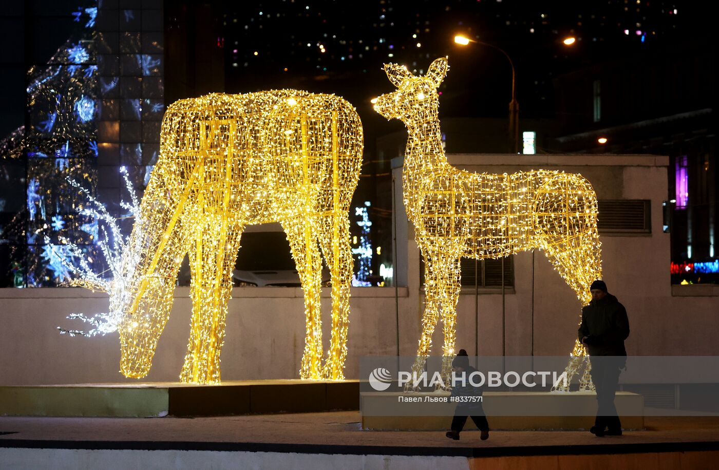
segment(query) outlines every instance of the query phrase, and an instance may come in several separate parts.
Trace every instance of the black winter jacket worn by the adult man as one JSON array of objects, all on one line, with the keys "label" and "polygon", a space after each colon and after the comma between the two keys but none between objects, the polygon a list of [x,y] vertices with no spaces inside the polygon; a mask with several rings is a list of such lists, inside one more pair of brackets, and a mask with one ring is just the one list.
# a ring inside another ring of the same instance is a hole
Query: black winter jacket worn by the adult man
[{"label": "black winter jacket worn by the adult man", "polygon": [[590,356],[626,356],[624,340],[629,336],[629,319],[624,305],[611,294],[592,300],[582,308],[580,341],[587,338]]}]

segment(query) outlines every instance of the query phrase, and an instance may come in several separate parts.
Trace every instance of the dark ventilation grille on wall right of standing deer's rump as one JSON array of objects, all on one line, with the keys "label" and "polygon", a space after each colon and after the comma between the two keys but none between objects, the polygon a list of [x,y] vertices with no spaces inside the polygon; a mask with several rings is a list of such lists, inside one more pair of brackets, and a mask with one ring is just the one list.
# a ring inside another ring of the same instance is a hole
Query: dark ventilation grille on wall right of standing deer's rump
[{"label": "dark ventilation grille on wall right of standing deer's rump", "polygon": [[651,234],[650,203],[651,201],[644,199],[597,201],[599,233]]}]

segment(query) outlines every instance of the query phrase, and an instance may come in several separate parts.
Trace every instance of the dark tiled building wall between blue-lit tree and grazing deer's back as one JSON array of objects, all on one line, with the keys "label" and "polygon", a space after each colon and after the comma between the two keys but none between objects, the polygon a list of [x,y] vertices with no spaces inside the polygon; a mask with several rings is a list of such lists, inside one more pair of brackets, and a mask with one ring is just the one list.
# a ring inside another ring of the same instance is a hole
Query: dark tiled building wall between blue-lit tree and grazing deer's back
[{"label": "dark tiled building wall between blue-lit tree and grazing deer's back", "polygon": [[[130,2],[126,2],[131,4]],[[98,183],[96,193],[111,211],[127,168],[135,188],[145,188],[160,155],[165,113],[165,41],[162,1],[101,2],[96,23],[99,74]]]}]

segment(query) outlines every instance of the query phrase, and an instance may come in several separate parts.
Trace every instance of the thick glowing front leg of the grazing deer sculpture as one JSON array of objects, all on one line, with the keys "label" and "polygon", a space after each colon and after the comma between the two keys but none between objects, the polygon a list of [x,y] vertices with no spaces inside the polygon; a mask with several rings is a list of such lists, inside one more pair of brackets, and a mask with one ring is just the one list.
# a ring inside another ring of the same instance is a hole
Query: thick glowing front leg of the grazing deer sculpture
[{"label": "thick glowing front leg of the grazing deer sculpture", "polygon": [[180,382],[220,382],[227,302],[242,229],[233,226],[217,232],[199,230],[190,251],[192,319]]}]

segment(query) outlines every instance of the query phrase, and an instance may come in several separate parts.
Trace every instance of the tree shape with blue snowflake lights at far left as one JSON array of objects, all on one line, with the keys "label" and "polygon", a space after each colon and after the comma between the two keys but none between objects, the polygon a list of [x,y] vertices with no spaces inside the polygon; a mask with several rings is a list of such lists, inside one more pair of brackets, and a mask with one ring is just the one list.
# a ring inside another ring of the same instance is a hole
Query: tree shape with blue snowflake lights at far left
[{"label": "tree shape with blue snowflake lights at far left", "polygon": [[96,249],[97,231],[91,218],[76,210],[80,197],[67,179],[95,186],[98,70],[92,37],[97,7],[82,6],[73,17],[80,23],[78,34],[45,65],[28,71],[29,126],[0,142],[3,160],[27,158],[27,205],[4,227],[4,235],[14,234],[12,267],[5,269],[15,280],[22,275],[27,286],[67,280],[63,263],[74,257],[65,243]]}]

